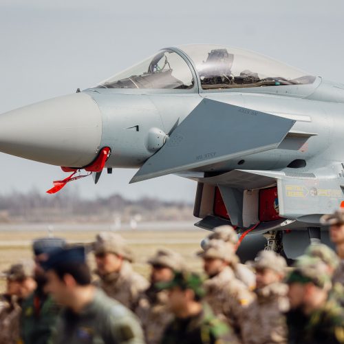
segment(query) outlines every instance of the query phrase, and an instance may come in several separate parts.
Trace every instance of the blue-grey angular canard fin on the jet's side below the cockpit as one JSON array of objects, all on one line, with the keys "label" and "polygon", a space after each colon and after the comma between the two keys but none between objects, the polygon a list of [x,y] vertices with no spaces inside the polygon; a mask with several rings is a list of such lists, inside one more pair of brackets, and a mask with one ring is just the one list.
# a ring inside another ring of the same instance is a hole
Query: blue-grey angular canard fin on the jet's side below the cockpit
[{"label": "blue-grey angular canard fin on the jet's side below the cockpit", "polygon": [[204,99],[131,182],[197,169],[278,147],[294,120]]}]

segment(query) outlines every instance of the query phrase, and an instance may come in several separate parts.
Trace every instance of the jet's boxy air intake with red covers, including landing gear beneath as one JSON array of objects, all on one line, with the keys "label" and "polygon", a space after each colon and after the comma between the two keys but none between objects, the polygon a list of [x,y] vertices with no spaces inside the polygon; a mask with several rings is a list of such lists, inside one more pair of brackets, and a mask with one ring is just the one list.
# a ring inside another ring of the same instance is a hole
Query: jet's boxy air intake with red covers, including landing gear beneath
[{"label": "jet's boxy air intake with red covers, including landing gear beneath", "polygon": [[331,246],[320,217],[342,205],[341,176],[237,170],[192,179],[198,182],[194,215],[201,218],[195,226],[230,224],[238,235],[252,228],[238,250],[243,262],[264,248],[296,259],[310,244]]}]

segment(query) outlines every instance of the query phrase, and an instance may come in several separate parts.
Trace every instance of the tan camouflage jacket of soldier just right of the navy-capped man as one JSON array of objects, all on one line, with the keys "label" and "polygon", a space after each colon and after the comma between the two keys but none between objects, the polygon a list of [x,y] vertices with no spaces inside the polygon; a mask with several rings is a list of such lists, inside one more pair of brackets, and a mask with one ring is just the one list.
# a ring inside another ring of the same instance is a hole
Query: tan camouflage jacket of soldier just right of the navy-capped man
[{"label": "tan camouflage jacket of soldier just right of the navy-capped man", "polygon": [[133,271],[131,264],[124,262],[120,272],[101,276],[96,281],[96,286],[105,293],[125,305],[130,310],[135,310],[138,305],[138,297],[141,292],[149,287],[144,277]]}]

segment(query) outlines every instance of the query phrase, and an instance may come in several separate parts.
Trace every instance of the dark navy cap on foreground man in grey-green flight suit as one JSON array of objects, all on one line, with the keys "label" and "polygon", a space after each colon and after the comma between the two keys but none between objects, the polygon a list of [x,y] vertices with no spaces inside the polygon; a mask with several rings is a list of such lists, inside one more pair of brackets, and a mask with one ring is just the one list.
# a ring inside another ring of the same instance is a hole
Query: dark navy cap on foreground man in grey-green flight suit
[{"label": "dark navy cap on foreground man in grey-green flight suit", "polygon": [[86,264],[86,253],[84,246],[62,248],[52,252],[47,261],[42,263],[44,270],[54,269],[61,264],[78,263]]}]

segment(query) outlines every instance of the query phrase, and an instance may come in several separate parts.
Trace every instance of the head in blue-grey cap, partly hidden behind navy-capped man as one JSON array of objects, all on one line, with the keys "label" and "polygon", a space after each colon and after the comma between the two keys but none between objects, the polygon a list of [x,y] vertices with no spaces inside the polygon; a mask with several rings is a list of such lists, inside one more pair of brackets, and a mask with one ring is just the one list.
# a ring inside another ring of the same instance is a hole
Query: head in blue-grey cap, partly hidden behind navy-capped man
[{"label": "head in blue-grey cap, partly hidden behind navy-capped man", "polygon": [[60,250],[65,246],[65,240],[55,237],[45,237],[34,240],[32,250],[34,252],[34,278],[39,287],[43,287],[46,278],[42,264],[55,250]]}]

